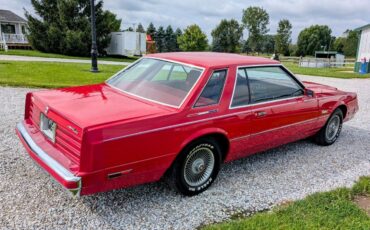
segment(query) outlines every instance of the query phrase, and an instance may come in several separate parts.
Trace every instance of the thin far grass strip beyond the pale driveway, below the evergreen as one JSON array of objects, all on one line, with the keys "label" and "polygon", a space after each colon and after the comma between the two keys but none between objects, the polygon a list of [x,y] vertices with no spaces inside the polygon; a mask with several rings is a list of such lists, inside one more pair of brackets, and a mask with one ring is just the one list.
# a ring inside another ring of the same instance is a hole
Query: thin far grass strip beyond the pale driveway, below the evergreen
[{"label": "thin far grass strip beyond the pale driveway, below the evergreen", "polygon": [[[28,57],[45,57],[45,58],[69,58],[69,59],[90,59],[90,57],[75,57],[68,56],[63,54],[53,54],[53,53],[43,53],[37,50],[8,50],[0,51],[0,54],[4,55],[19,55],[19,56],[28,56]],[[128,58],[128,57],[99,57],[98,60],[103,61],[118,61],[118,62],[134,62],[137,58]]]}]

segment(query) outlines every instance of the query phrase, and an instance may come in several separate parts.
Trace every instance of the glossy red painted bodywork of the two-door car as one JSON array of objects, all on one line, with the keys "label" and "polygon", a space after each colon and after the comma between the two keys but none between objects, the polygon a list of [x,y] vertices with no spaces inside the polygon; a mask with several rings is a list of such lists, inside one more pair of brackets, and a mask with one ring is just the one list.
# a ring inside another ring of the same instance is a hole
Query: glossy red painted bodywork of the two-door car
[{"label": "glossy red painted bodywork of the two-door car", "polygon": [[[280,65],[264,58],[215,53],[153,54],[205,68],[180,108],[138,98],[102,83],[33,92],[26,97],[24,124],[32,139],[63,167],[81,177],[81,195],[159,180],[191,141],[219,135],[229,142],[225,161],[315,134],[339,106],[345,121],[358,111],[357,96],[336,88],[303,82],[314,96],[230,108],[238,66]],[[227,69],[217,105],[193,107],[214,70]],[[58,124],[53,143],[39,129],[40,112]],[[259,116],[263,112],[263,116]],[[64,187],[20,137],[31,157]],[[110,174],[121,176],[109,178]]]}]

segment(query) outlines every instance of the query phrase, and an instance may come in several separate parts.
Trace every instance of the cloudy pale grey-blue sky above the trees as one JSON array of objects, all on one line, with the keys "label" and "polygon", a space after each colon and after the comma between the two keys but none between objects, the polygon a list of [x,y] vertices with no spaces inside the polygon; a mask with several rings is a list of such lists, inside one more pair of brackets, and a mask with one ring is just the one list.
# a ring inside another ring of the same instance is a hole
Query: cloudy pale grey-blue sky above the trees
[{"label": "cloudy pale grey-blue sky above the trees", "polygon": [[[146,28],[150,22],[176,29],[198,24],[211,39],[211,31],[222,19],[241,22],[243,9],[264,8],[270,15],[269,34],[275,34],[280,19],[292,25],[292,40],[313,24],[328,25],[334,36],[346,29],[370,23],[370,0],[105,0],[104,8],[122,19],[121,29],[140,22]],[[24,17],[24,10],[33,12],[30,0],[0,0],[0,9],[11,10]],[[244,38],[247,32],[244,33]]]}]

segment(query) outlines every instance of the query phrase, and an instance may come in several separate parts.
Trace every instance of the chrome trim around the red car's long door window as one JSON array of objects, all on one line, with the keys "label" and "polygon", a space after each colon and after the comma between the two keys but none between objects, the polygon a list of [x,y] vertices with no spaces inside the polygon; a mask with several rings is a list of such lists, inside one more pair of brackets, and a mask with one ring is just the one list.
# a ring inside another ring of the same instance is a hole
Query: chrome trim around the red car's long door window
[{"label": "chrome trim around the red car's long door window", "polygon": [[[235,93],[235,88],[236,88],[236,81],[238,79],[238,70],[239,69],[245,69],[245,68],[254,68],[254,67],[280,67],[283,69],[283,71],[286,71],[287,74],[293,78],[294,81],[297,82],[298,85],[302,87],[302,89],[305,89],[304,84],[294,76],[292,72],[290,72],[287,68],[285,68],[282,64],[260,64],[260,65],[241,65],[241,66],[236,66],[236,71],[235,71],[235,79],[234,79],[234,87],[233,87],[233,93],[231,94],[231,100],[229,103],[229,109],[239,109],[239,108],[245,108],[245,107],[250,107],[253,105],[260,105],[260,104],[266,104],[266,103],[272,103],[276,101],[284,101],[284,100],[289,100],[289,99],[294,99],[294,98],[299,98],[303,96],[292,96],[289,98],[283,98],[283,99],[276,99],[276,100],[270,100],[270,101],[264,101],[264,102],[258,102],[258,103],[250,103],[247,105],[240,105],[240,106],[232,106],[233,99],[234,99],[234,93]],[[248,76],[247,76],[248,77]]]}]

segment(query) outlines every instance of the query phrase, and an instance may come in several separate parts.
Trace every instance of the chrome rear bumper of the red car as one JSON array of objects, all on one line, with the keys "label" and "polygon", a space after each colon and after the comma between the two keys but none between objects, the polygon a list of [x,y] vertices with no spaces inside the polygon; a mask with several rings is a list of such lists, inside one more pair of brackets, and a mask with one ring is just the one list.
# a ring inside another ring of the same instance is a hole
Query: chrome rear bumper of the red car
[{"label": "chrome rear bumper of the red car", "polygon": [[81,177],[77,177],[73,175],[70,171],[64,168],[61,164],[59,164],[56,160],[51,158],[44,150],[42,150],[31,138],[28,134],[26,128],[24,127],[23,123],[20,122],[17,124],[17,129],[19,133],[22,135],[25,142],[28,144],[30,149],[55,173],[57,173],[63,180],[67,182],[75,182],[78,184],[78,187],[75,189],[67,189],[72,193],[74,196],[79,196],[82,186]]}]

